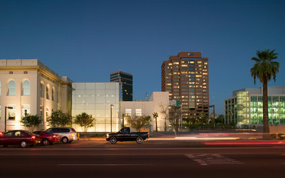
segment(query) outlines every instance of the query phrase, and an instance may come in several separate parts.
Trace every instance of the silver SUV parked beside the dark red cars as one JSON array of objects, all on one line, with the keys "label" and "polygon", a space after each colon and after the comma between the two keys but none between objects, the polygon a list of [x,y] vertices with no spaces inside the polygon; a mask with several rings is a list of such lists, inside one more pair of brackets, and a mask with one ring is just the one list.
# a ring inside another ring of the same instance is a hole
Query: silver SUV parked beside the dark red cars
[{"label": "silver SUV parked beside the dark red cars", "polygon": [[78,140],[76,131],[71,127],[52,127],[47,129],[46,132],[59,135],[63,144],[71,143],[73,140]]}]

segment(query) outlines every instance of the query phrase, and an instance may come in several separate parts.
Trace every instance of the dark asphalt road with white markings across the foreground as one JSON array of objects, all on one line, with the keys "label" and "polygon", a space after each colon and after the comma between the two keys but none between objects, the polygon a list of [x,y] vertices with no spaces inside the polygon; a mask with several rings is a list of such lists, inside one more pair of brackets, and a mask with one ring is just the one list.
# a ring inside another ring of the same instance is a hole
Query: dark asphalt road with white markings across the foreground
[{"label": "dark asphalt road with white markings across the foreground", "polygon": [[113,145],[93,140],[0,146],[0,177],[285,177],[284,142],[223,144],[231,142],[149,140]]}]

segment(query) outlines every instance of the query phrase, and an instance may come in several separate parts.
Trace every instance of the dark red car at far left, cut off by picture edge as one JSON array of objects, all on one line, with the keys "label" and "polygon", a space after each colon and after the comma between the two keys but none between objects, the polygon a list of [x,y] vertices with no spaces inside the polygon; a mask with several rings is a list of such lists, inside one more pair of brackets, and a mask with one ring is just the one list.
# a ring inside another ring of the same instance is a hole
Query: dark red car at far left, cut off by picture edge
[{"label": "dark red car at far left, cut off by picture edge", "polygon": [[30,133],[29,131],[8,131],[0,133],[0,145],[20,145],[21,147],[34,146],[34,144],[41,143],[39,135]]}]

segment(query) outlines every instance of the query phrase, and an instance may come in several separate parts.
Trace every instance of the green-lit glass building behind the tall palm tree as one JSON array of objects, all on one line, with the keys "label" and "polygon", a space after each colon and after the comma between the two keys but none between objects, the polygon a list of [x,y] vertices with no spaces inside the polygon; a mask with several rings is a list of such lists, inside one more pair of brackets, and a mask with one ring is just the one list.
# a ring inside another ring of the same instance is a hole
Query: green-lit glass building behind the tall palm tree
[{"label": "green-lit glass building behind the tall palm tree", "polygon": [[[262,100],[262,87],[233,91],[233,97],[224,100],[224,122],[262,125]],[[285,124],[285,87],[268,87],[268,118],[271,125]]]}]

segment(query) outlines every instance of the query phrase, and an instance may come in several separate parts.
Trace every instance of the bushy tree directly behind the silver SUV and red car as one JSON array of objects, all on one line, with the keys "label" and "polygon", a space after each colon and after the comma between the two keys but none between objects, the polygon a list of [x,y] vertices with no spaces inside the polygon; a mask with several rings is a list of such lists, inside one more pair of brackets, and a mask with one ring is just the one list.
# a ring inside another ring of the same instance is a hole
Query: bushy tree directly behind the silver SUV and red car
[{"label": "bushy tree directly behind the silver SUV and red car", "polygon": [[66,126],[67,124],[72,124],[72,116],[68,113],[63,113],[63,111],[53,111],[50,118],[47,119],[50,126]]}]

